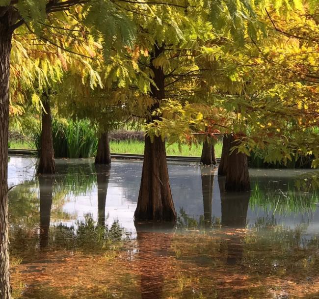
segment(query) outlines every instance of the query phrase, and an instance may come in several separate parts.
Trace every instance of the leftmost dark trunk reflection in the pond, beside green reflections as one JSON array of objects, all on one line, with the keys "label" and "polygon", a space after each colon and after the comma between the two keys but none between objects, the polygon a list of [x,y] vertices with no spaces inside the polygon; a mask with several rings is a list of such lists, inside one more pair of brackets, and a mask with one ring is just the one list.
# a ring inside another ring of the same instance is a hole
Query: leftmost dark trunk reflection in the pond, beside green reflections
[{"label": "leftmost dark trunk reflection in the pond, beside green reflections", "polygon": [[54,176],[39,175],[40,248],[48,246]]}]

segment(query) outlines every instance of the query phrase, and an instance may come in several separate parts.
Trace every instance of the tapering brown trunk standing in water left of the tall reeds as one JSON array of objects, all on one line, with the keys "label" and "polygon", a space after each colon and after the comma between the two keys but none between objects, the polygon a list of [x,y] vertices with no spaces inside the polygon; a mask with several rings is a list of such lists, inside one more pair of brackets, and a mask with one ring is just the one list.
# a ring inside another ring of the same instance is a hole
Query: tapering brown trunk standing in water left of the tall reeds
[{"label": "tapering brown trunk standing in water left of the tall reeds", "polygon": [[55,173],[55,163],[52,138],[52,119],[50,99],[47,92],[43,93],[42,99],[41,148],[37,173],[53,174]]}]

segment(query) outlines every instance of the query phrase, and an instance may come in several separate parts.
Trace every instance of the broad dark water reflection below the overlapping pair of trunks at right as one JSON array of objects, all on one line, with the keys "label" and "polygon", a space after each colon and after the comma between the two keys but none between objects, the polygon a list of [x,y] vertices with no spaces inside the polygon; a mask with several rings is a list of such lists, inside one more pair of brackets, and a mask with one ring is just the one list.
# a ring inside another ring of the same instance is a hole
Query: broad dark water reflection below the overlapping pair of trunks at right
[{"label": "broad dark water reflection below the overlapping pair of trunks at right", "polygon": [[[245,228],[250,192],[225,192],[225,178],[218,177],[221,200],[221,224],[229,228]],[[227,240],[227,264],[235,265],[242,260],[243,238],[240,232]]]}]

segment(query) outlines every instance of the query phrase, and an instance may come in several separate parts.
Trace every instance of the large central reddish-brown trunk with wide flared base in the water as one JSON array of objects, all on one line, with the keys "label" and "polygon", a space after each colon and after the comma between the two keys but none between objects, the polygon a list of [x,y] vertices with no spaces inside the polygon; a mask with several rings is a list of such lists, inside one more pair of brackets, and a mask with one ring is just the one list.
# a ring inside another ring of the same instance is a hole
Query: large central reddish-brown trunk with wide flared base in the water
[{"label": "large central reddish-brown trunk with wide flared base in the water", "polygon": [[[155,67],[153,60],[163,53],[164,48],[154,46],[151,53],[150,68],[154,73],[151,86],[151,96],[158,100],[150,108],[150,112],[160,107],[160,100],[165,98],[165,77],[161,67]],[[149,119],[152,122],[159,117]],[[154,137],[153,143],[149,136],[145,137],[144,161],[141,185],[138,194],[137,207],[134,213],[136,221],[176,221],[172,192],[169,185],[166,162],[165,142],[160,137]]]}]

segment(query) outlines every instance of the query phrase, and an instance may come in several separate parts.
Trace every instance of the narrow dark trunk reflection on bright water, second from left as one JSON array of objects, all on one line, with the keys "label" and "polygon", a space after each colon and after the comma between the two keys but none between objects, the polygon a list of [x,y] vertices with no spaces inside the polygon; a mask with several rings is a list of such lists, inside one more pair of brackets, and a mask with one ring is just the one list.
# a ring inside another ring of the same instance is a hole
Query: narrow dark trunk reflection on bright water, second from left
[{"label": "narrow dark trunk reflection on bright water, second from left", "polygon": [[105,206],[110,166],[95,164],[95,171],[98,186],[98,224],[105,226]]}]

